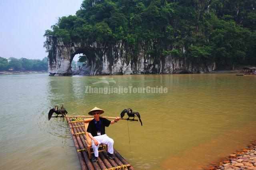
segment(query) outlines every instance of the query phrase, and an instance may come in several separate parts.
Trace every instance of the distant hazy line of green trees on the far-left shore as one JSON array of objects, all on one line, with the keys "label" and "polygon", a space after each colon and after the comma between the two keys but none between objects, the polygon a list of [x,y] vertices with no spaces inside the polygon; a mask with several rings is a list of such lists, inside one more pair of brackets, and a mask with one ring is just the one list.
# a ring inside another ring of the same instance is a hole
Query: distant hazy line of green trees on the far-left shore
[{"label": "distant hazy line of green trees on the far-left shore", "polygon": [[[8,61],[9,60],[9,61]],[[9,59],[0,57],[0,71],[46,71],[48,70],[47,57],[44,59],[16,59],[11,57]]]}]

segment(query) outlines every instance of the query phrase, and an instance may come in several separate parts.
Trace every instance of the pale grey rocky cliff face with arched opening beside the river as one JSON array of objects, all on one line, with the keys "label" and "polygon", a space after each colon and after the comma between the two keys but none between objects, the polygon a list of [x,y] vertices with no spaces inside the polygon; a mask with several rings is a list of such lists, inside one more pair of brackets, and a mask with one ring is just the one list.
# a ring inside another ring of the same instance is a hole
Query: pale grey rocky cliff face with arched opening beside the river
[{"label": "pale grey rocky cliff face with arched opening beside the river", "polygon": [[[115,74],[175,74],[205,73],[216,69],[215,63],[196,65],[186,59],[176,59],[172,55],[154,61],[146,54],[142,45],[137,55],[123,42],[116,45],[92,43],[63,43],[60,39],[46,36],[44,43],[48,51],[48,72],[50,75],[72,75],[71,62],[76,54],[88,57],[87,64],[75,74],[115,75]],[[136,56],[131,59],[130,56]]]}]

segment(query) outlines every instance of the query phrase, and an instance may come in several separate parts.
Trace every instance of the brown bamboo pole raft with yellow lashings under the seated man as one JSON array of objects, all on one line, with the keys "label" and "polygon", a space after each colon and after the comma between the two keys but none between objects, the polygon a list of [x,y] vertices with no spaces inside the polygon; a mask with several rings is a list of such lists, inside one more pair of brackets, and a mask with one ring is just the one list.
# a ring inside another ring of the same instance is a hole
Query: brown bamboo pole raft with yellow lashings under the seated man
[{"label": "brown bamboo pole raft with yellow lashings under the seated man", "polygon": [[72,117],[66,117],[66,120],[70,127],[82,170],[135,170],[115,149],[115,159],[106,156],[106,152],[99,152],[98,162],[92,162],[85,149],[84,118],[75,117],[76,120],[74,121],[70,121],[70,118]]}]

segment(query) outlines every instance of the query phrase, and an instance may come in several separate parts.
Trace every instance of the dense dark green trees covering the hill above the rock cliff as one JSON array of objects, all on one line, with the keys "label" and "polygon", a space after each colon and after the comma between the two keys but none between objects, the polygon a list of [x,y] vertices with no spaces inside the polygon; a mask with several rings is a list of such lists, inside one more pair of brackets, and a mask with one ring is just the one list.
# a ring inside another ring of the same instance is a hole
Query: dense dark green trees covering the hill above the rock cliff
[{"label": "dense dark green trees covering the hill above the rock cliff", "polygon": [[122,40],[136,51],[186,58],[218,69],[256,64],[254,0],[84,0],[75,16],[59,18],[52,30],[62,41],[109,45]]}]

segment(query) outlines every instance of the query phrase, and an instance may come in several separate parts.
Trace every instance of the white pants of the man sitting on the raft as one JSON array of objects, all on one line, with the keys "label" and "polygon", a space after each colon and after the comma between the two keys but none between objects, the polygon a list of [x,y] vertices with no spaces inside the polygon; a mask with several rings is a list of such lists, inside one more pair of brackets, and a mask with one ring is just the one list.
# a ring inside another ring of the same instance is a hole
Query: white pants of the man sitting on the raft
[{"label": "white pants of the man sitting on the raft", "polygon": [[[114,140],[113,140],[113,139],[111,139],[110,137],[108,137],[106,134],[100,135],[100,136],[95,136],[94,138],[98,141],[99,145],[100,145],[101,143],[107,144],[107,145],[108,145],[108,152],[109,152],[110,154],[113,154],[113,153],[114,153],[114,149],[113,149]],[[94,156],[95,156],[95,157],[98,157],[98,156],[99,156],[99,152],[98,152],[99,145],[98,145],[98,146],[97,146],[97,145],[94,145],[94,142],[93,142],[93,140],[92,140],[92,149],[93,149],[93,151],[94,151]]]}]

